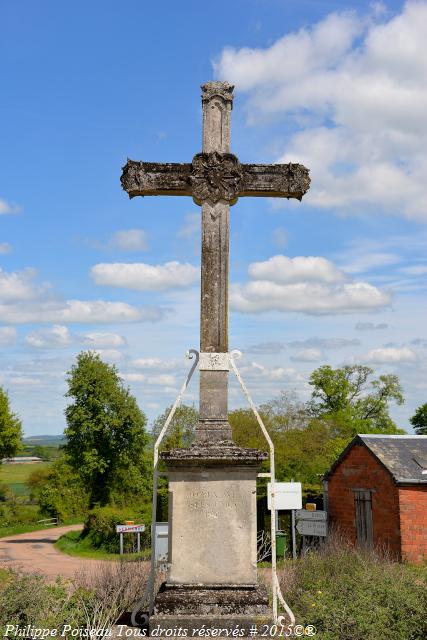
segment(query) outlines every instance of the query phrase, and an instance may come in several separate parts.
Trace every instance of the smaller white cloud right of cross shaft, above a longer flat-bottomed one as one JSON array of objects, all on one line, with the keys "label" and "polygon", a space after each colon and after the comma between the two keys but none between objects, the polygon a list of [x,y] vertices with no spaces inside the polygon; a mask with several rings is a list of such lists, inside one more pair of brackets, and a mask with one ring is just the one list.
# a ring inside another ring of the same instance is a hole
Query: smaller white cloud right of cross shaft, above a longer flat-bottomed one
[{"label": "smaller white cloud right of cross shaft, above a longer flat-bottomed one", "polygon": [[332,262],[317,256],[272,256],[265,262],[253,262],[248,272],[254,280],[268,280],[277,284],[301,281],[334,283],[345,279],[342,271]]}]

